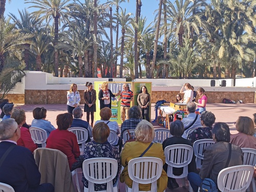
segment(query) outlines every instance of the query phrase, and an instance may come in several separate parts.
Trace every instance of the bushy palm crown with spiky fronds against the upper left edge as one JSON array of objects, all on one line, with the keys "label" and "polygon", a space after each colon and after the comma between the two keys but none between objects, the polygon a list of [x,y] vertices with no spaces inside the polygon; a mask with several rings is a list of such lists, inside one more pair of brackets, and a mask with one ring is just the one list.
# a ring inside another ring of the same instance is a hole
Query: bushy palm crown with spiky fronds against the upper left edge
[{"label": "bushy palm crown with spiky fronds against the upper left edge", "polygon": [[0,72],[5,66],[7,55],[22,60],[24,45],[31,44],[28,40],[31,35],[20,33],[20,30],[15,29],[15,24],[10,23],[10,19],[10,17],[7,20],[0,19]]}]

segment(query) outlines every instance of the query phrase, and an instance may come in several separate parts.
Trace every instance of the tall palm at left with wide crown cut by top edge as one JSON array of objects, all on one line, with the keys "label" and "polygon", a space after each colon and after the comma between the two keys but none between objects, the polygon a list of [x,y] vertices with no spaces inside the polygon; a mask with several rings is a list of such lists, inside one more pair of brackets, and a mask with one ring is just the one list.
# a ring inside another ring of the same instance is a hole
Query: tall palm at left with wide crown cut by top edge
[{"label": "tall palm at left with wide crown cut by top edge", "polygon": [[69,11],[67,4],[70,0],[25,0],[25,3],[35,4],[29,8],[38,8],[38,11],[34,11],[32,15],[39,18],[39,20],[46,20],[49,22],[50,19],[54,19],[54,41],[53,46],[55,49],[54,53],[54,76],[58,76],[58,34],[60,20],[65,18],[65,10]]}]

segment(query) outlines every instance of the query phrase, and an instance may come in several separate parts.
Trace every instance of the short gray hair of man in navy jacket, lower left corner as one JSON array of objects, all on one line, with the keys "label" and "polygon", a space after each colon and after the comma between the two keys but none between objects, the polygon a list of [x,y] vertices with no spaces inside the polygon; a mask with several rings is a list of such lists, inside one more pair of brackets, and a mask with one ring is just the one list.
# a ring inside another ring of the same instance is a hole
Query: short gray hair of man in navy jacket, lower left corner
[{"label": "short gray hair of man in navy jacket, lower left corner", "polygon": [[17,130],[18,124],[12,118],[4,119],[0,122],[0,141],[7,140],[13,137]]}]

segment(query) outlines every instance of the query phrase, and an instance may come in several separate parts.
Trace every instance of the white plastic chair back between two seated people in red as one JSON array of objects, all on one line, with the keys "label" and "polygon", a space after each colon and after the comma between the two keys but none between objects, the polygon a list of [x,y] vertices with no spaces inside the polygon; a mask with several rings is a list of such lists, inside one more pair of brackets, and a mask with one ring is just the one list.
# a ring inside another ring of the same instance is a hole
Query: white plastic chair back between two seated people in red
[{"label": "white plastic chair back between two seated people in red", "polygon": [[45,130],[39,127],[31,126],[29,127],[29,132],[34,143],[41,144],[42,147],[46,147],[46,140],[48,136]]}]

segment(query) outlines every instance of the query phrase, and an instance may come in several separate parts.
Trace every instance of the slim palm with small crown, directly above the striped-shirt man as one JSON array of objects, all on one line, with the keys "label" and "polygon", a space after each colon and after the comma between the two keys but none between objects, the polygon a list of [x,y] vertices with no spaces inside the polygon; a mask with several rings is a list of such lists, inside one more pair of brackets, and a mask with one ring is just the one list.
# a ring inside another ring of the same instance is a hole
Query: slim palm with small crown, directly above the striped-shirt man
[{"label": "slim palm with small crown, directly above the striped-shirt man", "polygon": [[132,18],[130,18],[131,13],[126,14],[126,9],[121,11],[120,15],[117,14],[117,20],[122,27],[122,37],[121,37],[121,59],[120,59],[120,78],[123,77],[123,55],[124,55],[124,34],[127,29],[127,25],[131,23]]}]

